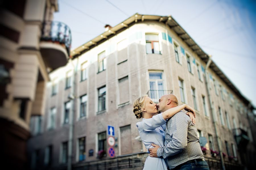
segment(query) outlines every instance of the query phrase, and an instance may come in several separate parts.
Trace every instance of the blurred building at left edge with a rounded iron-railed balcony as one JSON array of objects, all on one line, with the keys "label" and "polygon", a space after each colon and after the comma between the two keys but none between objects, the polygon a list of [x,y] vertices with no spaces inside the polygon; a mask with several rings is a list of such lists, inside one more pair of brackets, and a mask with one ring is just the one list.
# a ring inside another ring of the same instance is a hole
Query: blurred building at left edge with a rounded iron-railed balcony
[{"label": "blurred building at left edge with a rounded iron-railed balcony", "polygon": [[67,25],[53,21],[57,0],[0,4],[1,165],[28,169],[30,120],[42,121],[49,72],[67,64],[71,32]]}]

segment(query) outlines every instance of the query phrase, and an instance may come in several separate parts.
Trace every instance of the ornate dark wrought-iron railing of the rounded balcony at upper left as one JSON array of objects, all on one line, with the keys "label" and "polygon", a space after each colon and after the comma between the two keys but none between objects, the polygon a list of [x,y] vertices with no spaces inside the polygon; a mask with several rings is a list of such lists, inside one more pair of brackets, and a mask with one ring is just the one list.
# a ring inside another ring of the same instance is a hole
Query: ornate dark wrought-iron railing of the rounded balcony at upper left
[{"label": "ornate dark wrought-iron railing of the rounded balcony at upper left", "polygon": [[71,48],[71,31],[70,28],[57,21],[45,21],[42,28],[42,41],[52,41],[64,44],[68,55]]}]

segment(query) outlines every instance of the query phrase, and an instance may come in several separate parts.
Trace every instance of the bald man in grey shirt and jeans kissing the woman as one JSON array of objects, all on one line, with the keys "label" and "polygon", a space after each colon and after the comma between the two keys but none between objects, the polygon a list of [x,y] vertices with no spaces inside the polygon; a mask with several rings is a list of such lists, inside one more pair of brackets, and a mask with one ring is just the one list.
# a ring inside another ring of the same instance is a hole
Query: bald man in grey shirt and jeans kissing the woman
[{"label": "bald man in grey shirt and jeans kissing the woman", "polygon": [[[178,100],[173,94],[163,95],[157,107],[159,112],[177,107]],[[165,146],[152,144],[150,157],[163,157],[169,169],[205,169],[209,170],[201,150],[197,130],[190,118],[182,111],[166,122]]]}]

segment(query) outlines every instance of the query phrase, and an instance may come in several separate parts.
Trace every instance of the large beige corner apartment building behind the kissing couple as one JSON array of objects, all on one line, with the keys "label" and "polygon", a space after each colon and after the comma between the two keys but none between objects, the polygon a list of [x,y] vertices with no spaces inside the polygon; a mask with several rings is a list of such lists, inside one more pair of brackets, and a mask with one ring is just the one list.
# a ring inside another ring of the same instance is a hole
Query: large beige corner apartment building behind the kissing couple
[{"label": "large beige corner apartment building behind the kissing couple", "polygon": [[210,168],[255,165],[255,108],[172,16],[135,14],[106,25],[71,56],[51,72],[45,113],[31,125],[32,168],[142,169],[148,153],[133,101],[148,94],[158,102],[167,93],[195,108]]}]

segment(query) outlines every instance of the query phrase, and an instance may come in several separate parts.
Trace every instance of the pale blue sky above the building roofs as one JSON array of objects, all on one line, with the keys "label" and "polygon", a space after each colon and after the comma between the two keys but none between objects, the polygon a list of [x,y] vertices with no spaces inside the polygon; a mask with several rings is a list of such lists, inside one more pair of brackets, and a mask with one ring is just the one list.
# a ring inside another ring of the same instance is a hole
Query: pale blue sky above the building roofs
[{"label": "pale blue sky above the building roofs", "polygon": [[256,107],[256,1],[59,0],[54,20],[70,27],[74,49],[137,12],[172,15]]}]

